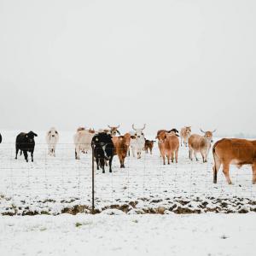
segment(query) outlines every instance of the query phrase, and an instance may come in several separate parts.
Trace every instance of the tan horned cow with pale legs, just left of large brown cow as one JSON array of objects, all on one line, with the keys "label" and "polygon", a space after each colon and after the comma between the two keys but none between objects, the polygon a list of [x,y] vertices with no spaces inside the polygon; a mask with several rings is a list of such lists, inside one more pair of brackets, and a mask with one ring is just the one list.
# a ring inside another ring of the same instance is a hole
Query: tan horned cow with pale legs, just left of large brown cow
[{"label": "tan horned cow with pale legs, just left of large brown cow", "polygon": [[204,136],[193,134],[189,137],[189,159],[193,160],[193,153],[195,155],[195,160],[198,161],[198,158],[196,156],[196,153],[201,153],[201,157],[203,159],[203,162],[207,162],[207,157],[209,154],[209,150],[211,148],[212,143],[212,134],[214,131],[202,131],[204,133]]}]

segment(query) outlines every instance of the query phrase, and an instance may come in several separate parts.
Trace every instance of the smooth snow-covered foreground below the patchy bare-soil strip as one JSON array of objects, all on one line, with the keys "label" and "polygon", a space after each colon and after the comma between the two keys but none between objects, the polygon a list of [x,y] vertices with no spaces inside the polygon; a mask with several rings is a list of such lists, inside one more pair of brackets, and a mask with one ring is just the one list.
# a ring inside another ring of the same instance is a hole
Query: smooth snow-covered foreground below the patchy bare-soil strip
[{"label": "smooth snow-covered foreground below the patchy bare-soil strip", "polygon": [[114,212],[122,214],[0,217],[0,254],[255,255],[254,213]]}]

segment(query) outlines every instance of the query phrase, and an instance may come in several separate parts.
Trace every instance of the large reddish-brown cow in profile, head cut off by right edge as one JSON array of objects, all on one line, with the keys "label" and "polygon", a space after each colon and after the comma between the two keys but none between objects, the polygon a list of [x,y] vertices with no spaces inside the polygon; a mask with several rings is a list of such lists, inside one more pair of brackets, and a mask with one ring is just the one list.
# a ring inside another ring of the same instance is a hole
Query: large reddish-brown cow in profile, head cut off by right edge
[{"label": "large reddish-brown cow in profile, head cut off by right edge", "polygon": [[243,165],[251,165],[253,169],[253,184],[256,184],[256,141],[246,139],[224,138],[213,145],[214,159],[213,183],[217,183],[217,174],[221,165],[229,184],[230,165],[241,168]]}]

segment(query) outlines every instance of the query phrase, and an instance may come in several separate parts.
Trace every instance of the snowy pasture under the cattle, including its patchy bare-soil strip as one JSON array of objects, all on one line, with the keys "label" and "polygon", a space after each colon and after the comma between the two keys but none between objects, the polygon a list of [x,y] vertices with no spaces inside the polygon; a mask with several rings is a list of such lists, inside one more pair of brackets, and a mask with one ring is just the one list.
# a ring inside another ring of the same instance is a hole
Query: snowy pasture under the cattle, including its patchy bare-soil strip
[{"label": "snowy pasture under the cattle, including its patchy bare-soil strip", "polygon": [[[36,131],[37,132],[37,131]],[[61,132],[56,158],[48,155],[45,133],[38,132],[34,162],[15,160],[18,131],[2,131],[0,214],[37,215],[90,212],[91,154],[74,159],[73,132]],[[146,136],[147,137],[147,136]],[[147,138],[153,138],[148,136]],[[216,140],[216,138],[215,138]],[[212,183],[212,151],[207,163],[190,161],[180,148],[178,163],[163,166],[157,143],[143,159],[129,157],[125,169],[113,159],[113,173],[96,171],[96,212],[116,208],[132,213],[256,212],[256,185],[250,166],[231,167],[234,185],[222,172]]]}]

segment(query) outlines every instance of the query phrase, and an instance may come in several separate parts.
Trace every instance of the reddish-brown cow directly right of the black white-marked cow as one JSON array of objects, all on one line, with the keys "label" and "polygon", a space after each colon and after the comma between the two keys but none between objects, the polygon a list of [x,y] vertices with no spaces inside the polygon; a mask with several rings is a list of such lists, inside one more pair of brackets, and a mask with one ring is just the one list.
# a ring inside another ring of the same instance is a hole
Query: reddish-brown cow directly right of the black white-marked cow
[{"label": "reddish-brown cow directly right of the black white-marked cow", "polygon": [[130,133],[125,133],[124,136],[113,137],[114,154],[119,157],[120,168],[125,168],[125,157],[130,147],[131,138],[135,138]]}]

